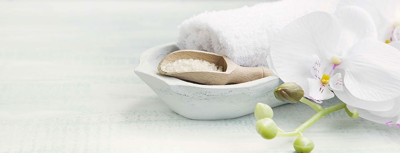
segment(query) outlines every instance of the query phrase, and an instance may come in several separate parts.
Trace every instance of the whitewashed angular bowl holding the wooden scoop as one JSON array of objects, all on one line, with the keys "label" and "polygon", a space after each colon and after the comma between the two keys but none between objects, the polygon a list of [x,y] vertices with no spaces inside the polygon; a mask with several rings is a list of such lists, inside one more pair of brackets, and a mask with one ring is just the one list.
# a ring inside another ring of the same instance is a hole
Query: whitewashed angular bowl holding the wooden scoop
[{"label": "whitewashed angular bowl holding the wooden scoop", "polygon": [[231,119],[254,112],[256,104],[271,107],[285,104],[273,90],[283,82],[277,76],[233,85],[200,85],[165,76],[157,71],[166,55],[179,50],[168,43],[146,50],[135,69],[144,82],[176,113],[190,119]]}]

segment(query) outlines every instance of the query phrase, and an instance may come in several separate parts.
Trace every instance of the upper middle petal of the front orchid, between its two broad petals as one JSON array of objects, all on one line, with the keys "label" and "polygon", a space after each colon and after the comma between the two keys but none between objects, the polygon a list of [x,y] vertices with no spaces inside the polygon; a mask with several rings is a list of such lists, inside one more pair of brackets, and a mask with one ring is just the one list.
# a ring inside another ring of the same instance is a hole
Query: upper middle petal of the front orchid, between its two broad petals
[{"label": "upper middle petal of the front orchid, between its two broad petals", "polygon": [[336,12],[341,26],[337,54],[343,56],[363,38],[377,38],[374,20],[364,9],[347,6]]}]

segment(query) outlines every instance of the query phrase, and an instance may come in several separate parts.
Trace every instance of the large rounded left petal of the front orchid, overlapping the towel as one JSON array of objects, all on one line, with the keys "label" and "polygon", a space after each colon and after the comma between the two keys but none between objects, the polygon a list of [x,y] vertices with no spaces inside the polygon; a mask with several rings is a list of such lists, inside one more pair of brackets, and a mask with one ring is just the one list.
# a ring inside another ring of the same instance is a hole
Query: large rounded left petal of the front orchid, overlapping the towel
[{"label": "large rounded left petal of the front orchid, overlapping the towel", "polygon": [[306,88],[305,78],[312,77],[312,55],[324,57],[322,65],[331,63],[339,34],[338,20],[326,12],[312,12],[289,23],[271,44],[270,56],[276,74],[284,82],[293,81]]}]

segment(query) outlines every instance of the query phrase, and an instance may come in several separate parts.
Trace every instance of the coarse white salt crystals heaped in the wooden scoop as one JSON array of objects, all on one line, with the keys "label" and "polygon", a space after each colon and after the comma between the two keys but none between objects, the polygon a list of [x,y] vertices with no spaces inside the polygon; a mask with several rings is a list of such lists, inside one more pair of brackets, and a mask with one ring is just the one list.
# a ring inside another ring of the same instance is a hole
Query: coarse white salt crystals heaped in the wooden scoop
[{"label": "coarse white salt crystals heaped in the wooden scoop", "polygon": [[168,63],[161,67],[164,72],[184,72],[184,71],[222,71],[222,66],[211,64],[204,60],[182,59],[174,63]]}]

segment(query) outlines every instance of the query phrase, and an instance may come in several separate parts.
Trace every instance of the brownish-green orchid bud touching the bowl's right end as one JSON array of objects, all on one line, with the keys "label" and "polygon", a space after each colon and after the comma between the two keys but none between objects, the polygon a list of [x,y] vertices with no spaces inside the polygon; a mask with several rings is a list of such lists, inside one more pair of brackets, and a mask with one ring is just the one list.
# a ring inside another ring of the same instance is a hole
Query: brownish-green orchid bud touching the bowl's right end
[{"label": "brownish-green orchid bud touching the bowl's right end", "polygon": [[297,103],[304,96],[304,90],[297,83],[286,82],[274,90],[274,95],[280,101]]}]

